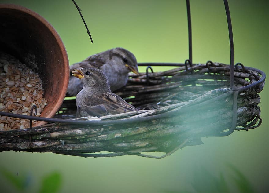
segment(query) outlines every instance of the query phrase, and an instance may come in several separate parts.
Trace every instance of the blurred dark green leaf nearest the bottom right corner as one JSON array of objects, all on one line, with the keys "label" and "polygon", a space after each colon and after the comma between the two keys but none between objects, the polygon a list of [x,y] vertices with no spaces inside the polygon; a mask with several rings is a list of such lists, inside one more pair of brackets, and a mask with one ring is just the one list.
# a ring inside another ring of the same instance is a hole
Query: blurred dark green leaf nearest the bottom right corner
[{"label": "blurred dark green leaf nearest the bottom right corner", "polygon": [[241,173],[236,167],[232,164],[228,164],[230,169],[233,170],[235,176],[231,176],[234,180],[234,184],[239,188],[240,192],[248,193],[248,192],[255,192],[251,182]]}]

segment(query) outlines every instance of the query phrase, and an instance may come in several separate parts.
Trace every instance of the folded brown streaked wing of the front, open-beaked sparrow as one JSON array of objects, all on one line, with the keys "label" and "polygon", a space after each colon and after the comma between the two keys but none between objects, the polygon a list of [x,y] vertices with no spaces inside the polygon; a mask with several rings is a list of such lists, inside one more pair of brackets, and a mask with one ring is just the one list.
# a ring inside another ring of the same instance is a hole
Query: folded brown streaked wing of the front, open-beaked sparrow
[{"label": "folded brown streaked wing of the front, open-beaked sparrow", "polygon": [[[85,111],[91,116],[104,116],[130,111],[137,111],[131,104],[127,103],[120,96],[106,92],[94,98],[88,98],[85,101]],[[94,104],[94,105],[93,105]]]}]

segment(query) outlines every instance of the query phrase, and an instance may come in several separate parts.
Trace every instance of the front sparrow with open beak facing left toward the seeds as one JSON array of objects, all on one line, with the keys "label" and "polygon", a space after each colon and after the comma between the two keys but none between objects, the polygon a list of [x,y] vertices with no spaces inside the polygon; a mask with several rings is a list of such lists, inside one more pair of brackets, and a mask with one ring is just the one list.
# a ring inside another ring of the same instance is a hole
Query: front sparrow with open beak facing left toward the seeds
[{"label": "front sparrow with open beak facing left toward the seeds", "polygon": [[108,78],[103,71],[80,68],[74,69],[72,75],[83,82],[83,89],[76,96],[77,117],[101,117],[137,111],[134,106],[111,92]]}]

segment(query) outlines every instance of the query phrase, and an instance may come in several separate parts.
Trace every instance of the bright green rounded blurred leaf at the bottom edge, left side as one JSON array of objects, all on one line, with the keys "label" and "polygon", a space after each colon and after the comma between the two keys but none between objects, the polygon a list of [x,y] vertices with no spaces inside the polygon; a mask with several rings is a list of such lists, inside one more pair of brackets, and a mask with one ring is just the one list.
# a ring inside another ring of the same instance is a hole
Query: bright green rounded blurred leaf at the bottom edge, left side
[{"label": "bright green rounded blurred leaf at the bottom edge, left side", "polygon": [[59,172],[53,172],[43,177],[40,188],[40,193],[55,193],[59,191],[61,185],[61,174]]}]

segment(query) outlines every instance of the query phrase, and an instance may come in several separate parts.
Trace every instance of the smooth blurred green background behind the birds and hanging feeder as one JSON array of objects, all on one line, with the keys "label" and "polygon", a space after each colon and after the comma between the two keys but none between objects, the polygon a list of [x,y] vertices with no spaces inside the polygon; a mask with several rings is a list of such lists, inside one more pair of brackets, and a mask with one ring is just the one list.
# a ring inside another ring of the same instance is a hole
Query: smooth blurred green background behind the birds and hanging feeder
[{"label": "smooth blurred green background behind the birds and hanging feeder", "polygon": [[[23,5],[48,20],[61,36],[70,64],[119,46],[134,53],[138,62],[183,63],[188,58],[185,0],[76,0],[90,29],[93,44],[71,0],[0,2]],[[269,75],[268,1],[231,0],[229,6],[235,63],[241,62]],[[190,7],[193,62],[212,60],[229,64],[223,1],[190,0]],[[167,68],[154,69],[162,71]],[[145,67],[139,71],[145,71]],[[263,123],[259,128],[248,132],[235,131],[227,137],[203,138],[203,145],[185,147],[162,160],[138,156],[80,158],[8,151],[0,153],[1,167],[14,174],[28,175],[30,186],[27,192],[36,192],[39,179],[54,171],[62,176],[60,192],[196,192],[195,185],[207,178],[205,173],[197,172],[204,170],[216,177],[222,173],[229,190],[237,192],[229,167],[232,164],[250,181],[255,192],[266,192],[269,190],[267,84],[260,96]],[[16,192],[5,177],[0,175],[0,180],[0,190]],[[201,188],[197,192],[202,191]]]}]

